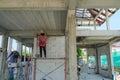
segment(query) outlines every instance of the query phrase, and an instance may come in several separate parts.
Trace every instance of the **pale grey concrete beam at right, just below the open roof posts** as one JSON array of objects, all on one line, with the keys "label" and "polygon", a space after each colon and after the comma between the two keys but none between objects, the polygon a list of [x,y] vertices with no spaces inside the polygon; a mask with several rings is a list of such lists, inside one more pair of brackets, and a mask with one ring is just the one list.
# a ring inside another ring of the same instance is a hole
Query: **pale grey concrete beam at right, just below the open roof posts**
[{"label": "pale grey concrete beam at right, just below the open roof posts", "polygon": [[77,30],[76,36],[118,36],[120,37],[120,30]]}]

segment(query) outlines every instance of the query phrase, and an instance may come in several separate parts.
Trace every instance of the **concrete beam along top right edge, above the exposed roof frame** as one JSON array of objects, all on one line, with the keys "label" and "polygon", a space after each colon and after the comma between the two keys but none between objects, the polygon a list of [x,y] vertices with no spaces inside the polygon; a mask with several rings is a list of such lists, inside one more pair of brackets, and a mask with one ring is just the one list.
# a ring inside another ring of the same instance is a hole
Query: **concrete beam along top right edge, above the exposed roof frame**
[{"label": "concrete beam along top right edge, above the exposed roof frame", "polygon": [[77,0],[78,8],[120,8],[120,0]]}]

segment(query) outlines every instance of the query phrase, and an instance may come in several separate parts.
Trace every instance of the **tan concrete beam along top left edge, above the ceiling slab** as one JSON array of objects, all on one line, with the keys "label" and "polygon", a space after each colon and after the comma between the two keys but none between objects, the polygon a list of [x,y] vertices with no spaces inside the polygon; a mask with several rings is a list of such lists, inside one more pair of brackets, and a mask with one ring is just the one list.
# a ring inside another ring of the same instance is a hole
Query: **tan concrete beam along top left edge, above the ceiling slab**
[{"label": "tan concrete beam along top left edge, above the ceiling slab", "polygon": [[66,0],[0,0],[0,9],[66,10]]}]

